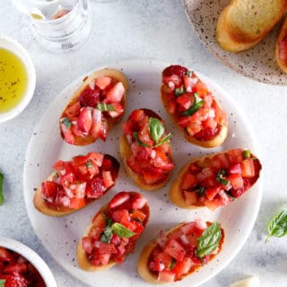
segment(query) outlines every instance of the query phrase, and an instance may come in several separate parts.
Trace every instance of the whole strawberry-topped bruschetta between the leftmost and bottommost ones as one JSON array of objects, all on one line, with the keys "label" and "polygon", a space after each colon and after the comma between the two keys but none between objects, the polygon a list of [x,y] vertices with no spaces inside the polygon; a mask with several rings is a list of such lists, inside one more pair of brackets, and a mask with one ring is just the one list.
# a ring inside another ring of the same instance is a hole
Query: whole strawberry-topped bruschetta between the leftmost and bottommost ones
[{"label": "whole strawberry-topped bruschetta between the leftmost and bottommost ones", "polygon": [[136,192],[120,192],[100,208],[77,249],[79,266],[89,272],[122,264],[134,252],[136,240],[149,220],[146,199]]}]

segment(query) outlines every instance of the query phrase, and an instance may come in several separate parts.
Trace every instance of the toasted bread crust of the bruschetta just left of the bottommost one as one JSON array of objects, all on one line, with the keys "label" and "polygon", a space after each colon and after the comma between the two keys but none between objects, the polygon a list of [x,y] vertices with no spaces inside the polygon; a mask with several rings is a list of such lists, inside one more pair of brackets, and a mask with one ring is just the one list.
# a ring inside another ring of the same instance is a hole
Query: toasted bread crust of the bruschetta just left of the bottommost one
[{"label": "toasted bread crust of the bruschetta just left of the bottommost one", "polygon": [[[135,192],[130,192],[130,194],[136,194],[136,193]],[[98,214],[100,214],[101,212],[105,212],[108,208],[109,208],[109,204],[106,204],[106,205],[104,205],[103,207],[100,208],[100,211],[95,214],[95,216],[94,216],[94,218],[92,220],[92,223],[85,230],[85,232],[83,234],[83,237],[88,236],[91,228],[93,226],[97,225],[97,216],[98,216]],[[149,212],[149,208],[148,208],[148,213],[146,214],[144,227],[145,227],[146,223],[149,221],[149,217],[150,217],[150,212]],[[111,268],[113,265],[117,264],[115,260],[111,260],[108,265],[100,265],[100,266],[92,265],[91,262],[86,257],[86,253],[85,253],[85,251],[84,251],[84,249],[82,247],[82,242],[81,241],[79,242],[78,247],[77,247],[77,260],[78,260],[78,265],[83,270],[88,271],[88,272],[104,271],[104,270],[107,270],[107,269]]]}]

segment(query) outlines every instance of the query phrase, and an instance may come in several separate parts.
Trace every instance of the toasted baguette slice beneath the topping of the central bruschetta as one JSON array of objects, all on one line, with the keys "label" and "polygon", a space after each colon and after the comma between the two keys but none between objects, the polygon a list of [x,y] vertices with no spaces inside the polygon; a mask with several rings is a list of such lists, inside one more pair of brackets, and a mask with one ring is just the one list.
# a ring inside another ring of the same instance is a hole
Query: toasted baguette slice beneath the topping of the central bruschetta
[{"label": "toasted baguette slice beneath the topping of the central bruschetta", "polygon": [[[159,117],[156,113],[154,113],[151,109],[136,109],[131,115],[130,117],[128,118],[128,121],[130,120],[131,117],[133,117],[133,114],[135,114],[136,112],[138,111],[143,111],[144,115],[146,115],[147,117],[153,117],[153,118],[158,118],[161,120],[161,117]],[[161,120],[162,121],[162,120]],[[125,124],[124,124],[125,125]],[[162,124],[162,126],[164,126],[164,123]],[[165,128],[165,127],[164,127]],[[164,135],[167,135],[166,133]],[[162,135],[162,137],[164,136]],[[135,138],[134,138],[134,135],[133,135],[133,131],[131,131],[131,139],[135,142]],[[133,142],[133,143],[134,143]],[[157,180],[155,182],[149,182],[147,183],[144,178],[143,178],[143,175],[141,173],[137,173],[135,172],[134,170],[132,170],[130,168],[130,166],[128,165],[127,161],[128,159],[132,156],[132,150],[131,150],[131,144],[127,142],[126,140],[126,135],[123,135],[121,138],[120,138],[120,141],[119,141],[119,155],[124,163],[124,167],[126,169],[126,173],[127,175],[132,178],[134,181],[135,181],[135,184],[137,187],[140,187],[142,188],[143,190],[148,190],[148,191],[154,191],[154,190],[158,190],[160,189],[161,187],[164,187],[167,182],[170,180],[170,177],[171,177],[171,173],[172,173],[172,170],[173,170],[173,161],[172,161],[172,158],[171,158],[171,147],[170,147],[170,141],[168,141],[167,143],[164,143],[166,144],[167,146],[167,149],[169,150],[169,152],[166,152],[166,158],[170,161],[170,165],[171,165],[171,168],[170,170],[166,171],[164,174],[163,174],[163,177],[160,178],[160,180]],[[140,147],[141,148],[141,152],[145,152],[145,148],[144,147]],[[153,149],[153,152],[157,152],[161,147],[158,147],[158,148],[152,148]],[[144,150],[144,151],[143,151]],[[151,153],[151,148],[147,148],[147,151],[148,153]],[[164,161],[162,161],[164,163]],[[144,162],[145,163],[145,162]],[[163,164],[162,163],[162,164]],[[137,161],[136,164],[138,166],[141,166],[141,164],[143,164],[142,161]],[[149,163],[151,165],[151,168],[153,170],[156,170],[156,168],[152,165],[152,163]],[[151,177],[152,177],[152,174],[151,174]]]}]

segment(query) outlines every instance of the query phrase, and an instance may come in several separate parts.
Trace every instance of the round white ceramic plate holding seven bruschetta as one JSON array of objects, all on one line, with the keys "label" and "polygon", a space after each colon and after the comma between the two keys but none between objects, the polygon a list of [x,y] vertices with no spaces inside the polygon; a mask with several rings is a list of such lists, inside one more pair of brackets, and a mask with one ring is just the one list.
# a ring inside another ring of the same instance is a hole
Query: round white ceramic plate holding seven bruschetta
[{"label": "round white ceramic plate holding seven bruschetta", "polygon": [[[203,79],[204,83],[207,83],[210,90],[213,91],[213,94],[221,102],[222,108],[228,111],[230,134],[222,147],[212,150],[206,150],[187,143],[178,132],[178,128],[171,123],[170,118],[161,105],[161,71],[167,65],[170,64],[134,60],[114,63],[107,67],[114,67],[123,71],[127,79],[129,79],[130,91],[127,98],[127,110],[122,122],[126,120],[132,110],[139,108],[153,109],[166,121],[168,130],[172,132],[171,144],[176,164],[172,179],[177,177],[178,170],[185,162],[195,156],[204,155],[207,152],[241,147],[249,148],[257,153],[256,144],[249,130],[248,123],[244,120],[244,116],[239,113],[230,97],[216,83],[213,83],[212,80],[199,73],[198,75]],[[100,68],[95,68],[95,70],[99,70]],[[187,277],[184,281],[175,283],[175,285],[197,286],[209,280],[230,263],[230,260],[235,257],[248,238],[248,234],[256,221],[261,202],[259,182],[239,200],[226,206],[224,209],[218,209],[216,212],[211,212],[205,208],[187,211],[171,204],[168,193],[172,180],[170,180],[167,187],[162,188],[160,191],[143,192],[143,195],[146,196],[151,206],[151,219],[147,224],[146,230],[143,232],[143,236],[137,242],[135,254],[127,257],[123,265],[117,265],[108,271],[97,274],[84,272],[77,266],[75,256],[76,246],[86,226],[90,223],[91,217],[99,210],[100,206],[108,203],[111,197],[118,191],[139,190],[138,187],[135,187],[132,180],[126,177],[123,167],[121,166],[116,186],[106,196],[103,196],[99,201],[94,202],[82,211],[65,216],[64,218],[53,218],[39,213],[34,208],[32,203],[34,191],[40,185],[41,181],[47,178],[51,172],[51,166],[58,159],[70,160],[74,155],[85,154],[91,151],[110,153],[119,159],[118,140],[121,136],[121,125],[109,131],[106,143],[98,141],[87,147],[72,146],[63,142],[60,137],[58,117],[62,109],[65,108],[66,101],[79,83],[81,83],[83,76],[66,87],[48,107],[46,114],[39,120],[39,125],[31,136],[26,154],[24,197],[30,222],[42,244],[67,272],[91,286],[118,286],[119,282],[121,286],[148,286],[149,284],[144,283],[136,273],[136,262],[143,245],[150,239],[157,237],[161,229],[170,229],[178,222],[188,222],[201,217],[205,221],[222,222],[222,227],[226,232],[222,253],[211,263],[205,265],[198,273]]]}]

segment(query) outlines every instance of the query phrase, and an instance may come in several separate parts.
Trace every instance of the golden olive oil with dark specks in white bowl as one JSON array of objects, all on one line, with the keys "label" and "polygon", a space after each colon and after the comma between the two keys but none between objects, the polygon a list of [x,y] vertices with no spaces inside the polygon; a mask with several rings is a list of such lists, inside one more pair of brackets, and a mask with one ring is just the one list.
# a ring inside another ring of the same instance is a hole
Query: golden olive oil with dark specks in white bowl
[{"label": "golden olive oil with dark specks in white bowl", "polygon": [[27,90],[27,71],[13,52],[0,48],[0,113],[16,107]]}]

